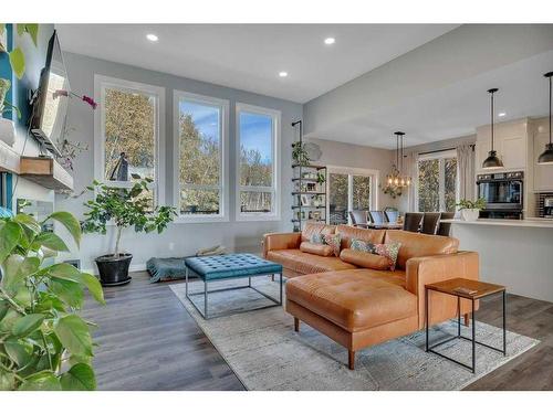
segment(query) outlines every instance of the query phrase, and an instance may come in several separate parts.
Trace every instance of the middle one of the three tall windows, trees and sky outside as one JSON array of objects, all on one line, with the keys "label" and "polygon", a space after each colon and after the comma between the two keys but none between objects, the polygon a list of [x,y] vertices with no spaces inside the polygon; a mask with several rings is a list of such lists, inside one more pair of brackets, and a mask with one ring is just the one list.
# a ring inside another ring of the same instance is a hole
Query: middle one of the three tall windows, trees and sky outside
[{"label": "middle one of the three tall windows, trees and sky outside", "polygon": [[216,216],[223,211],[223,114],[210,98],[182,94],[178,99],[179,209],[185,216]]}]

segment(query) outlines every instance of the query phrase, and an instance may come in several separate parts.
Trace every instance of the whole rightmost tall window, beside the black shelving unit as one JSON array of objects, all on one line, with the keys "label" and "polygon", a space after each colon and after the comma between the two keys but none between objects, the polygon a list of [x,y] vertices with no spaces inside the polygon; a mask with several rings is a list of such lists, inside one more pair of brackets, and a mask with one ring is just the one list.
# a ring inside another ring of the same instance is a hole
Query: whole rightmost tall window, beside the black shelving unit
[{"label": "whole rightmost tall window, beside the black shelving unit", "polygon": [[278,115],[261,108],[239,106],[240,215],[275,215],[275,146]]}]

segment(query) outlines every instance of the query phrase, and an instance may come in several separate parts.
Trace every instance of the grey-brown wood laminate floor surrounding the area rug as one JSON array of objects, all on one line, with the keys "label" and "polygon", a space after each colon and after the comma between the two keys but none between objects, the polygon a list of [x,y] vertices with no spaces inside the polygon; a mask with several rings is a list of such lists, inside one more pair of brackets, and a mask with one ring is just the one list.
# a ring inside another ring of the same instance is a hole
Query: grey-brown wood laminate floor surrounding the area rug
[{"label": "grey-brown wood laminate floor surrounding the area rug", "polygon": [[[138,272],[105,298],[83,311],[98,325],[98,390],[244,389],[167,283],[150,285]],[[501,326],[501,299],[482,301],[477,318]],[[542,342],[467,390],[553,390],[553,304],[509,295],[508,329]]]}]

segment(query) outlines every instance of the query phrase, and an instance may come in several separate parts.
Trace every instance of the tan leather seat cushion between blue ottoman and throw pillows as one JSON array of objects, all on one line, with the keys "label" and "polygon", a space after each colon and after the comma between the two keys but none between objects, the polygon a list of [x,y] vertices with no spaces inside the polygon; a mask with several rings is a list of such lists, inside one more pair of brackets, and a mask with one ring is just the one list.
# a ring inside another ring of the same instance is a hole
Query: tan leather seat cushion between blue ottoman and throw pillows
[{"label": "tan leather seat cushion between blue ottoman and throw pillows", "polygon": [[298,248],[271,251],[267,254],[267,258],[280,263],[285,268],[295,273],[301,273],[302,275],[355,268],[354,265],[342,262],[340,257],[317,256],[311,253],[304,253]]}]

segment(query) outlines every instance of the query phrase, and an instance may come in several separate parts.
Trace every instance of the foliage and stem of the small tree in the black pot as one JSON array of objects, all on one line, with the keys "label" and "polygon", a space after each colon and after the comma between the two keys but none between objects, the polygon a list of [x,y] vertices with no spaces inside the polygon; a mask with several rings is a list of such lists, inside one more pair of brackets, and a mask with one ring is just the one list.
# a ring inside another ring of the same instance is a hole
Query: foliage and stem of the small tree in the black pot
[{"label": "foliage and stem of the small tree in the black pot", "polygon": [[84,203],[90,210],[84,213],[83,231],[106,234],[106,225],[113,221],[117,226],[114,257],[119,255],[121,235],[125,229],[134,226],[135,232],[161,233],[176,215],[171,206],[152,209],[152,198],[147,195],[150,182],[150,179],[144,179],[129,189],[113,188],[98,181],[87,187],[96,195]]}]

